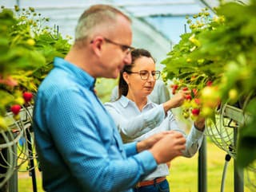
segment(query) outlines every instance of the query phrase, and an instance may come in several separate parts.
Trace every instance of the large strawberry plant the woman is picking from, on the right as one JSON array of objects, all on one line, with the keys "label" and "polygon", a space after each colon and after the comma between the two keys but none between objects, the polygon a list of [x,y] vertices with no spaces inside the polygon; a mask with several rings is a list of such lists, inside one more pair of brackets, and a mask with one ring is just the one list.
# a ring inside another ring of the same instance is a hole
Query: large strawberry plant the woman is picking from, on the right
[{"label": "large strawberry plant the woman is picking from, on the right", "polygon": [[[250,121],[238,131],[241,167],[256,159],[255,10],[255,0],[248,5],[221,4],[213,17],[203,9],[193,19],[187,18],[190,33],[182,34],[181,41],[162,61],[166,65],[163,79],[172,80],[173,93],[182,87],[192,90],[191,100],[182,106],[186,117],[198,114],[214,121],[220,104],[233,104],[250,114]],[[194,106],[195,100],[200,100],[198,106]]]}]

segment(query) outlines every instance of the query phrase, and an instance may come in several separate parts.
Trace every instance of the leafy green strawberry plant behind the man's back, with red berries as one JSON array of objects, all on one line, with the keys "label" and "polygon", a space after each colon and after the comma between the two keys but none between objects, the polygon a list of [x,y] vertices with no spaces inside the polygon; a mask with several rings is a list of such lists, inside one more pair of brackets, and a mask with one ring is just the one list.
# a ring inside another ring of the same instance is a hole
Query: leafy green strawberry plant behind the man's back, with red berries
[{"label": "leafy green strawberry plant behind the man's back, with red berries", "polygon": [[24,104],[33,104],[33,94],[52,69],[54,57],[64,57],[70,49],[70,37],[63,38],[46,25],[48,21],[32,7],[1,7],[0,131],[6,130],[6,112],[17,118]]}]

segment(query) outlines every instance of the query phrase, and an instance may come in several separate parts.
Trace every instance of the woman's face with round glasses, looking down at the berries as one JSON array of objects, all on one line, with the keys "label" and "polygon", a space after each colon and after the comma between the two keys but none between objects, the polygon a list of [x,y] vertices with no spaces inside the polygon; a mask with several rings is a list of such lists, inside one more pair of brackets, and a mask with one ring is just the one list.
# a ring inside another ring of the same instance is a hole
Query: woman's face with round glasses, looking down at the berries
[{"label": "woman's face with round glasses, looking down at the berries", "polygon": [[[126,83],[129,86],[128,94],[132,93],[134,96],[145,97],[150,95],[154,88],[155,80],[152,72],[155,71],[154,60],[150,57],[139,57],[134,61],[134,67],[131,72],[139,73],[126,73]],[[146,73],[148,78],[146,79]]]}]

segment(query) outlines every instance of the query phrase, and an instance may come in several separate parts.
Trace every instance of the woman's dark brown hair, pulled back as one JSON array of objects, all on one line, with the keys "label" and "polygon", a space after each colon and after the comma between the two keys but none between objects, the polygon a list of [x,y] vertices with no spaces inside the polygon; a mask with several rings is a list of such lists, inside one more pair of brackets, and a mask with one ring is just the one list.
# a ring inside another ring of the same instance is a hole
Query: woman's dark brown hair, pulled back
[{"label": "woman's dark brown hair, pulled back", "polygon": [[128,84],[126,84],[126,80],[123,79],[122,73],[127,72],[130,73],[131,69],[134,68],[134,62],[140,57],[149,57],[152,58],[155,62],[154,58],[151,56],[151,53],[146,49],[134,49],[131,53],[131,64],[125,65],[125,67],[120,72],[119,82],[118,82],[118,99],[121,96],[127,96],[128,93]]}]

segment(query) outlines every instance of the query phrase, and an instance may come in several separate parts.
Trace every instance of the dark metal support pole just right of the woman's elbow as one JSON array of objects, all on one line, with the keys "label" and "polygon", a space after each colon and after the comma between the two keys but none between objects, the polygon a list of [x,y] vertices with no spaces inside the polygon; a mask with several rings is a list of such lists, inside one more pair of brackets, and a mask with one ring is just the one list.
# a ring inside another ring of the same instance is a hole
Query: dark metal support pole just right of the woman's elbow
[{"label": "dark metal support pole just right of the woman's elbow", "polygon": [[203,136],[202,146],[198,151],[198,192],[207,192],[206,171],[206,136]]}]

